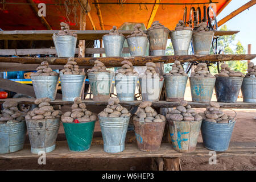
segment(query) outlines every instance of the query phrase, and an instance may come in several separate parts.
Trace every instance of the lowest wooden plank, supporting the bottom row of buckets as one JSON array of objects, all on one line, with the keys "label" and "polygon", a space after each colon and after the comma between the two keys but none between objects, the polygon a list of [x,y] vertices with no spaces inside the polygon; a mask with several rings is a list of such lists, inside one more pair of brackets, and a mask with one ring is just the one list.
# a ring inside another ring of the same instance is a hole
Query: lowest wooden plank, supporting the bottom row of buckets
[{"label": "lowest wooden plank, supporting the bottom row of buckets", "polygon": [[[246,143],[246,142],[244,142]],[[137,144],[126,144],[125,150],[118,154],[110,154],[103,151],[103,144],[92,145],[89,151],[86,152],[71,152],[68,149],[67,141],[60,141],[56,143],[56,149],[47,153],[47,159],[67,159],[67,158],[101,158],[101,159],[122,159],[122,158],[179,158],[181,156],[193,157],[209,157],[209,150],[203,147],[203,143],[197,143],[196,151],[190,153],[180,153],[175,151],[171,144],[162,143],[160,150],[157,152],[143,152],[139,151]],[[237,147],[230,143],[229,149],[225,152],[217,152],[218,158],[231,156],[256,156],[256,147]],[[23,150],[11,154],[0,154],[0,159],[25,159],[38,158],[37,154],[31,154],[30,144],[24,144]]]}]

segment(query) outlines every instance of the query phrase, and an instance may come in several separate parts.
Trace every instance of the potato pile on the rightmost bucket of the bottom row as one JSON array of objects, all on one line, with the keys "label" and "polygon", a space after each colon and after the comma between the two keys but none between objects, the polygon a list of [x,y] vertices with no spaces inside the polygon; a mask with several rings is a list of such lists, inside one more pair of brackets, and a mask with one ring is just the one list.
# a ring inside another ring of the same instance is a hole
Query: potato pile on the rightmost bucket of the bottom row
[{"label": "potato pile on the rightmost bucket of the bottom row", "polygon": [[217,102],[209,102],[209,105],[204,113],[199,113],[203,117],[204,121],[213,123],[228,123],[229,120],[233,120],[230,115],[224,114],[220,109],[220,105]]}]

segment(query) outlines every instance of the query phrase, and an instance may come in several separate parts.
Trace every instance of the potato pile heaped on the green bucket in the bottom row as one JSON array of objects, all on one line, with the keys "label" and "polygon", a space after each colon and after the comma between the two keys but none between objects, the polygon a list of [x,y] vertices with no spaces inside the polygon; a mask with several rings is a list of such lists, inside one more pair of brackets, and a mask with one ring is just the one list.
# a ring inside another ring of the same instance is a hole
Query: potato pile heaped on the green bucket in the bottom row
[{"label": "potato pile heaped on the green bucket in the bottom row", "polygon": [[82,103],[80,97],[76,97],[74,104],[71,106],[71,111],[67,111],[64,115],[61,115],[61,121],[66,123],[72,123],[75,119],[81,122],[96,121],[97,116],[91,111],[86,109],[86,105]]}]

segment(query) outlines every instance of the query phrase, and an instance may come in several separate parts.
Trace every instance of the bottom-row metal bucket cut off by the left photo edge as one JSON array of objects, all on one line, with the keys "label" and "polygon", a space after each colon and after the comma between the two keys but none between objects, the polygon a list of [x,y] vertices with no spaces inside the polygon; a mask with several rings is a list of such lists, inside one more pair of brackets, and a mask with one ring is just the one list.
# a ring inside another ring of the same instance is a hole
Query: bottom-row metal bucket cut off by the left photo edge
[{"label": "bottom-row metal bucket cut off by the left photo edge", "polygon": [[0,124],[0,154],[22,150],[27,133],[25,121]]}]

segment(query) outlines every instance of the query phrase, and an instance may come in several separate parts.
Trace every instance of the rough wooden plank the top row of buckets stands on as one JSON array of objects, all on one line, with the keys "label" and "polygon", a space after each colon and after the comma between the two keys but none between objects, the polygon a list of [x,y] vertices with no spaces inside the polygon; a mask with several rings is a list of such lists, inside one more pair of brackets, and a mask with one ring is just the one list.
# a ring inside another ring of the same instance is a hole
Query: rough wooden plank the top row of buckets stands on
[{"label": "rough wooden plank the top row of buckets stands on", "polygon": [[[137,57],[76,57],[78,65],[93,66],[94,60],[100,60],[106,67],[121,67],[123,60],[130,61],[134,66],[144,66],[147,62],[154,63],[174,63],[179,60],[181,63],[190,61],[231,61],[231,60],[251,60],[256,57],[251,55],[183,55],[183,56],[137,56]],[[61,57],[0,57],[0,63],[23,63],[40,64],[48,61],[53,65],[65,65],[67,58]],[[11,65],[10,65],[11,66]]]}]

